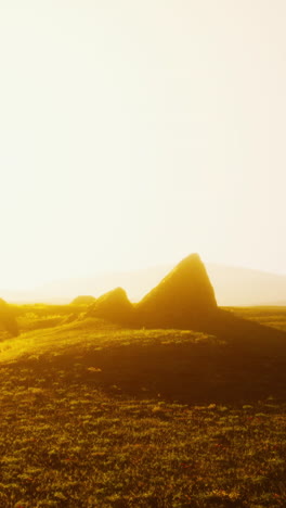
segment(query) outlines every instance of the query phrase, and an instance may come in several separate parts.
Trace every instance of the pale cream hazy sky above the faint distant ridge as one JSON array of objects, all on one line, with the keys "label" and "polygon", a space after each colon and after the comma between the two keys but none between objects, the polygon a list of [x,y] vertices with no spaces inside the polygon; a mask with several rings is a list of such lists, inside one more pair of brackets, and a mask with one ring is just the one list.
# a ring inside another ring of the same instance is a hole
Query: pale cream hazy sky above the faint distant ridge
[{"label": "pale cream hazy sky above the faint distant ridge", "polygon": [[0,288],[286,272],[285,0],[0,0]]}]

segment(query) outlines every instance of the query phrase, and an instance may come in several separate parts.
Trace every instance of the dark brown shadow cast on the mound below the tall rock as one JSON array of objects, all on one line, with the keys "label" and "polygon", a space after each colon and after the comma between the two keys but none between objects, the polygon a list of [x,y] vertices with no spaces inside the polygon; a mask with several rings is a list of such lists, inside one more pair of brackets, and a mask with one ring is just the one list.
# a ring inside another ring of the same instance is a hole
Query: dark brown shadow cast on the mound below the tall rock
[{"label": "dark brown shadow cast on the mound below the tall rock", "polygon": [[64,371],[72,382],[76,364],[80,382],[119,396],[190,404],[286,396],[285,332],[225,310],[195,328],[205,332],[202,340],[170,340],[170,332],[167,338],[161,329],[155,335],[145,330],[147,341],[132,342],[134,330],[130,330],[128,343],[112,341],[110,335],[110,343],[102,348],[43,355],[34,368],[39,376],[50,367]]}]

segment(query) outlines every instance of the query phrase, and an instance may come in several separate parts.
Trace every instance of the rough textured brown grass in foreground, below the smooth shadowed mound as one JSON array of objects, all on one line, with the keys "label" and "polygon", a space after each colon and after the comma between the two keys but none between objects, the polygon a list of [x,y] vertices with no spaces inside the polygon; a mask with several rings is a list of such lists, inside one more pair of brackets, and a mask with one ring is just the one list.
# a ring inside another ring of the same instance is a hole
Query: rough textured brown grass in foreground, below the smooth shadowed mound
[{"label": "rough textured brown grass in foreground, below the smooth shadowed mound", "polygon": [[107,395],[78,361],[0,369],[2,506],[285,506],[285,404]]}]

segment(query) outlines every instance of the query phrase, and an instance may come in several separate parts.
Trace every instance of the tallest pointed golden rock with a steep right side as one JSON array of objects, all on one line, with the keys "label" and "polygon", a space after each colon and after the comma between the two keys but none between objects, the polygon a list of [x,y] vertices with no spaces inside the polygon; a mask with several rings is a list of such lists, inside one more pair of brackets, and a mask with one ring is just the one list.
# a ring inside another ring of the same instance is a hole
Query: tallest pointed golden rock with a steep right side
[{"label": "tallest pointed golden rock with a steep right side", "polygon": [[136,305],[138,320],[156,327],[190,327],[217,312],[213,288],[198,254],[192,254]]}]

